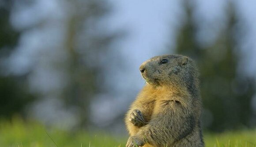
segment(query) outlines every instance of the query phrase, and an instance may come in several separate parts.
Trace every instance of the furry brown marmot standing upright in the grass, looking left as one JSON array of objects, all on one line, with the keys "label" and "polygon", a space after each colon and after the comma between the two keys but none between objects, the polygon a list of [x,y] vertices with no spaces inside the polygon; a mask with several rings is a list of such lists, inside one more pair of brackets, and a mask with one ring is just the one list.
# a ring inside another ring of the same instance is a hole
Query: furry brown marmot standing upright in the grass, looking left
[{"label": "furry brown marmot standing upright in the grass, looking left", "polygon": [[125,117],[130,134],[126,147],[204,147],[194,61],[182,55],[156,56],[139,70],[146,85]]}]

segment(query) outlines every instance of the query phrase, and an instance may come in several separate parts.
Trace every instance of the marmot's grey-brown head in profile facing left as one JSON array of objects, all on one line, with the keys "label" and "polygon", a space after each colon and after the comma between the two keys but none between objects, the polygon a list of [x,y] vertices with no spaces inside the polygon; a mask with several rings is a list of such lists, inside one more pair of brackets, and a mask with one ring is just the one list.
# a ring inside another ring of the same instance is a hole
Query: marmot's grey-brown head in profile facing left
[{"label": "marmot's grey-brown head in profile facing left", "polygon": [[153,57],[145,61],[139,70],[147,83],[154,86],[188,86],[195,83],[198,76],[192,59],[182,55]]}]

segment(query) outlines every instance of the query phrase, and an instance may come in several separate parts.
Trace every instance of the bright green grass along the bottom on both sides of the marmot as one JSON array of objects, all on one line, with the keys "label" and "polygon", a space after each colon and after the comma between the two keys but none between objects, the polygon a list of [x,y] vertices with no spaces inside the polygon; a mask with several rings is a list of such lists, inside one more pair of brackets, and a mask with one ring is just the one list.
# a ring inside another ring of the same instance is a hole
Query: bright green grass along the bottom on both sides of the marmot
[{"label": "bright green grass along the bottom on both sides of the marmot", "polygon": [[[45,128],[20,119],[0,121],[0,147],[125,147],[127,137]],[[256,147],[256,129],[204,133],[206,147]]]}]

